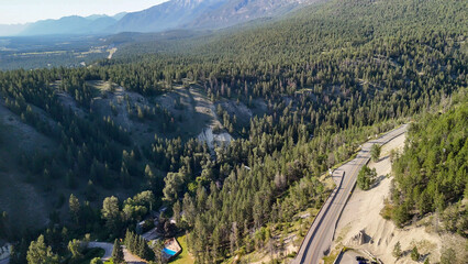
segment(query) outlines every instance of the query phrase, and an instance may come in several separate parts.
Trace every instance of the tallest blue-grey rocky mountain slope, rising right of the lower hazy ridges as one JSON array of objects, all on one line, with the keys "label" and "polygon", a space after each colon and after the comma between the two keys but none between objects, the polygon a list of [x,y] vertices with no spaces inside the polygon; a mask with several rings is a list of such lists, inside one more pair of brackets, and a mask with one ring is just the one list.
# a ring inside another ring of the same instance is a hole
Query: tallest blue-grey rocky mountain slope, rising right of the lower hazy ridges
[{"label": "tallest blue-grey rocky mountain slope, rising right of the lower hazy ridges", "polygon": [[114,32],[158,32],[172,29],[220,29],[287,13],[319,0],[171,0],[129,13]]}]

